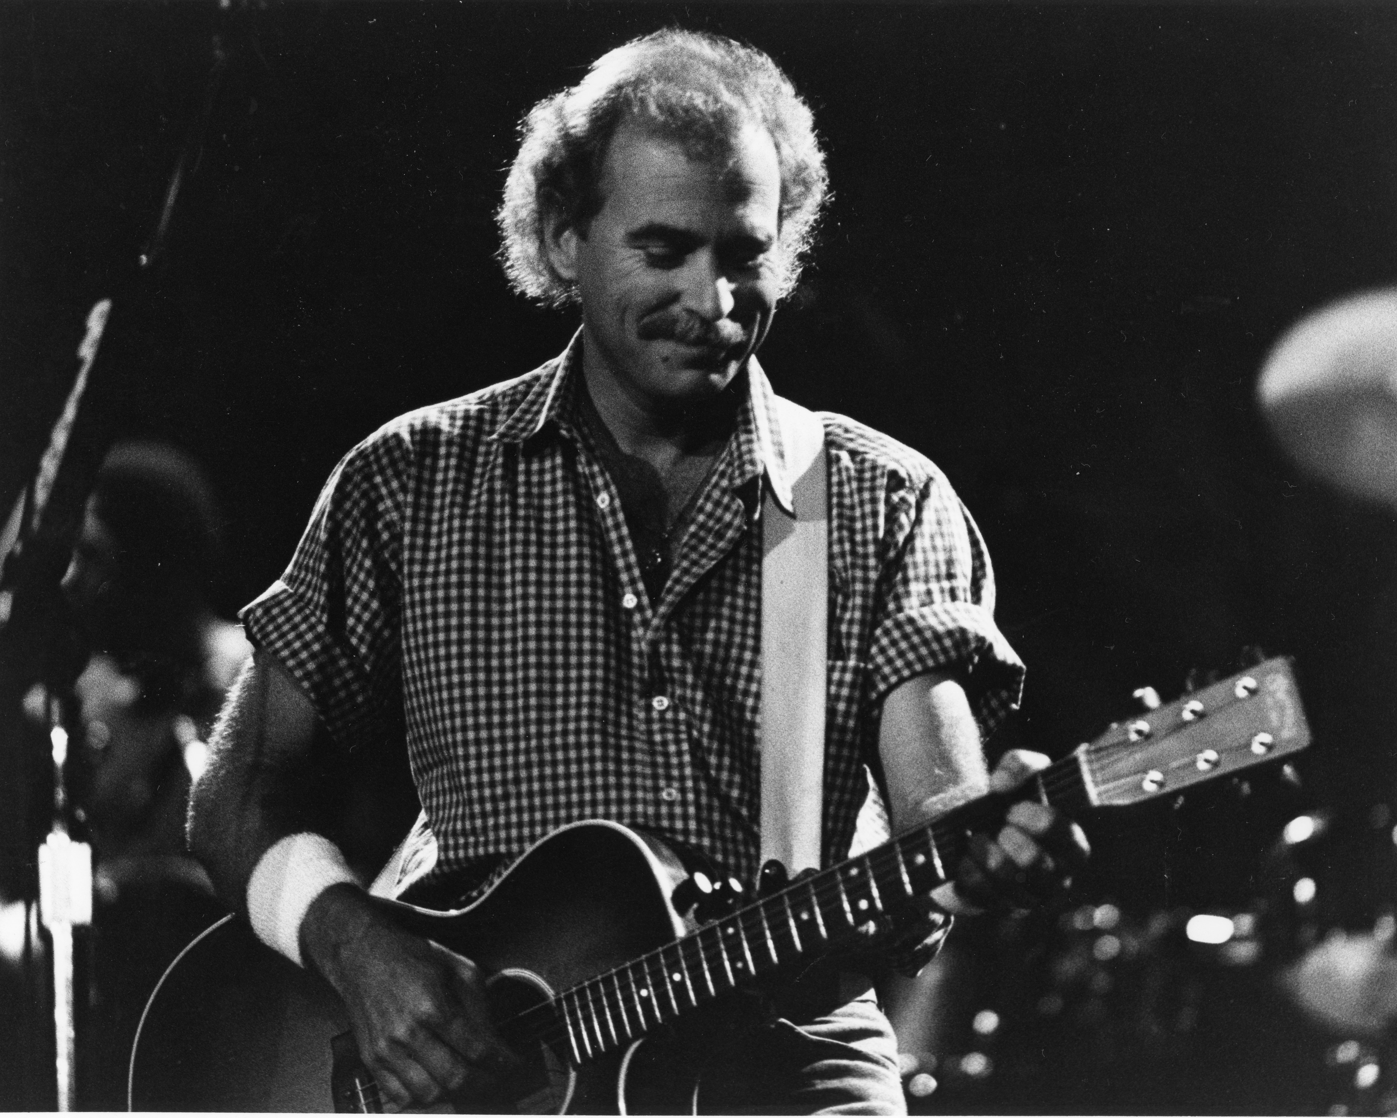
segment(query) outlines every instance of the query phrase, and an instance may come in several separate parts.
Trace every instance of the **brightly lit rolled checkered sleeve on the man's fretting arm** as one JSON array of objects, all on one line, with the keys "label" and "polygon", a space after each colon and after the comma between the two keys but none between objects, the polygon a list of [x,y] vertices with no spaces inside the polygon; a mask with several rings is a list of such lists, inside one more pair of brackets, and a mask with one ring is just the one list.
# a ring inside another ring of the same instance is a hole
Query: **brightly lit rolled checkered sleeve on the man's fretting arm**
[{"label": "brightly lit rolled checkered sleeve on the man's fretting arm", "polygon": [[894,558],[869,651],[875,696],[926,672],[954,672],[982,732],[993,732],[1018,706],[1024,665],[995,623],[995,576],[975,521],[933,477],[897,502],[888,532]]}]

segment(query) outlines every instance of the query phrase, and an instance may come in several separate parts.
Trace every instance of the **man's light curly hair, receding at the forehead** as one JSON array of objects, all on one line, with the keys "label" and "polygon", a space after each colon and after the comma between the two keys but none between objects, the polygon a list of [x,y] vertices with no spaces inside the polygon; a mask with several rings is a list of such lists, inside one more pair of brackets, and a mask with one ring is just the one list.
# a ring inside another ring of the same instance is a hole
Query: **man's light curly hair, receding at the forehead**
[{"label": "man's light curly hair, receding at the forehead", "polygon": [[510,284],[549,306],[577,300],[543,249],[559,210],[585,236],[601,211],[601,172],[616,129],[636,119],[703,162],[726,164],[749,124],[775,143],[781,168],[781,295],[795,286],[828,176],[810,108],[760,50],[705,32],[666,29],[602,55],[570,89],[535,105],[520,124],[520,151],[496,219]]}]

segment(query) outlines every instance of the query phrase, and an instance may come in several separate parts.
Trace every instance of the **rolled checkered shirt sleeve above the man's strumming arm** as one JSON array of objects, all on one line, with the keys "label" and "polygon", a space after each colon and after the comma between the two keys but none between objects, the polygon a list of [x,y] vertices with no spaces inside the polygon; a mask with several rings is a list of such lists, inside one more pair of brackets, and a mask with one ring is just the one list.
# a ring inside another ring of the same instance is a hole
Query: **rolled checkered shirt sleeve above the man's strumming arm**
[{"label": "rolled checkered shirt sleeve above the man's strumming arm", "polygon": [[346,748],[401,725],[401,503],[391,435],[335,467],[281,579],[242,611],[249,639],[275,657]]}]

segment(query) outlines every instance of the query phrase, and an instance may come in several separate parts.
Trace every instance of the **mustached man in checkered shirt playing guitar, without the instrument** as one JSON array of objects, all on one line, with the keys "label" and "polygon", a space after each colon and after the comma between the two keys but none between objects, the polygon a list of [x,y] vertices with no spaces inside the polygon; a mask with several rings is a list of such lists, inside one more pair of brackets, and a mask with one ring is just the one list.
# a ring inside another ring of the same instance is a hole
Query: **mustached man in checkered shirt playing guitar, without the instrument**
[{"label": "mustached man in checkered shirt playing guitar, without the instrument", "polygon": [[[580,305],[573,344],[349,451],[291,566],[243,614],[257,653],[191,797],[193,850],[264,942],[339,994],[397,1108],[507,1080],[515,1055],[472,960],[387,920],[314,832],[317,727],[337,749],[405,738],[423,813],[395,889],[418,903],[460,904],[588,818],[754,876],[757,521],[766,492],[791,499],[789,433],[754,354],[824,196],[810,110],[766,55],[664,31],[597,60],[525,117],[500,210],[515,288]],[[986,773],[981,727],[1017,703],[1023,668],[944,477],[820,419],[828,864],[870,770],[902,829],[1044,759]],[[1037,802],[970,848],[901,943],[935,942],[957,906],[1034,903],[1085,857],[1081,832]],[[735,1061],[707,1108],[904,1107],[869,995],[756,1026]]]}]

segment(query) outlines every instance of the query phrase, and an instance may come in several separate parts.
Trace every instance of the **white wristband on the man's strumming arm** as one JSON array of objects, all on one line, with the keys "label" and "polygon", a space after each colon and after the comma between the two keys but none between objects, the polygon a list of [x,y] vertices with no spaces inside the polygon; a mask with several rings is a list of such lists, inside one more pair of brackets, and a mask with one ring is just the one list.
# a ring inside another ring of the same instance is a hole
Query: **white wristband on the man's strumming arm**
[{"label": "white wristband on the man's strumming arm", "polygon": [[256,936],[298,967],[300,922],[331,885],[359,885],[339,847],[323,834],[288,834],[267,848],[247,880],[247,918]]}]

